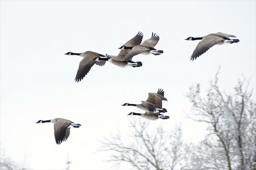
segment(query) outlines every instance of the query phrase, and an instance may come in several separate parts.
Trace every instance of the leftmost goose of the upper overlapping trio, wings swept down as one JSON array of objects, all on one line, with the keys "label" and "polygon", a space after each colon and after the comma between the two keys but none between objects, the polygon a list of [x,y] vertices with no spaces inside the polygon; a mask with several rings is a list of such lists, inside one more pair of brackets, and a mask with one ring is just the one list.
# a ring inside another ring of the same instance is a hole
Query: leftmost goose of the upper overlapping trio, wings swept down
[{"label": "leftmost goose of the upper overlapping trio, wings swept down", "polygon": [[102,66],[105,65],[106,60],[108,60],[108,57],[93,51],[85,51],[84,53],[67,52],[66,55],[78,55],[84,57],[79,62],[79,68],[75,78],[76,82],[80,82],[90,71],[94,64]]}]

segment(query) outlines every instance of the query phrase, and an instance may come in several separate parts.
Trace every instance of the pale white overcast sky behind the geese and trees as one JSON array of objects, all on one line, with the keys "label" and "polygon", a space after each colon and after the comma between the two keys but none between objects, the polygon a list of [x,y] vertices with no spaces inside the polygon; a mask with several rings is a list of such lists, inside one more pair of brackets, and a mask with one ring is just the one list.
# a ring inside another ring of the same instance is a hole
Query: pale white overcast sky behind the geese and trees
[{"label": "pale white overcast sky behind the geese and trees", "polygon": [[[66,167],[70,153],[71,169],[115,169],[98,153],[109,132],[129,133],[128,117],[148,92],[163,88],[169,102],[169,120],[161,123],[172,130],[181,123],[184,138],[204,138],[202,124],[185,119],[190,103],[185,97],[189,86],[201,83],[207,88],[221,65],[220,85],[232,91],[244,74],[255,85],[256,1],[0,1],[0,144],[6,154],[35,170]],[[93,66],[79,83],[73,81],[79,56],[68,51],[95,51],[117,55],[122,44],[138,31],[143,40],[151,32],[160,36],[156,48],[160,56],[138,55],[140,68],[119,68],[111,63]],[[190,61],[202,37],[223,32],[236,35],[239,43],[216,45]],[[69,139],[55,144],[52,124],[38,120],[61,117],[80,123],[71,129]],[[122,165],[129,169],[128,164]]]}]

